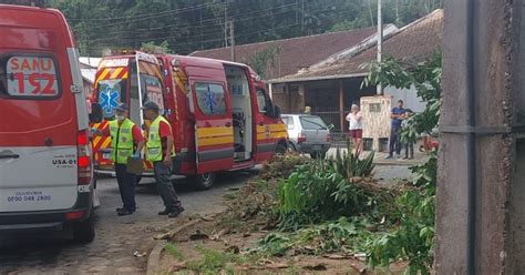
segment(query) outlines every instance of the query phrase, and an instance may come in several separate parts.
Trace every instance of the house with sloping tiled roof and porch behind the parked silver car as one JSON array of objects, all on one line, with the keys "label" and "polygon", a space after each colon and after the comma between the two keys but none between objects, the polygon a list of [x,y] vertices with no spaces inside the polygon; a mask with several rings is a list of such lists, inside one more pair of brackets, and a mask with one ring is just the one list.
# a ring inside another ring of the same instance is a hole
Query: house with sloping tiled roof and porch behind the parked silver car
[{"label": "house with sloping tiled roof and porch behind the parked silver car", "polygon": [[[441,50],[442,40],[443,10],[440,9],[383,37],[382,54],[418,63]],[[312,114],[344,131],[344,115],[351,104],[359,104],[362,96],[377,92],[375,86],[361,88],[367,75],[363,65],[375,59],[374,43],[354,45],[297,73],[269,80],[269,90],[284,113],[299,113],[310,106]],[[385,88],[384,93],[404,100],[405,105],[416,112],[424,108],[414,90]]]}]

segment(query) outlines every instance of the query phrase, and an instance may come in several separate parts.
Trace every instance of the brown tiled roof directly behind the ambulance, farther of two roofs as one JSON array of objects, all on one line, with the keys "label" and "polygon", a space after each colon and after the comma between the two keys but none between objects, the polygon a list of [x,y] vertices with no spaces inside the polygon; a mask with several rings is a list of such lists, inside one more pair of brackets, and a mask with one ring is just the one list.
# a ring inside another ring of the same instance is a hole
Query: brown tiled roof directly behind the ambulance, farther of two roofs
[{"label": "brown tiled roof directly behind the ambulance, farther of two roofs", "polygon": [[[397,30],[398,28],[392,24],[385,26],[384,34],[390,35]],[[266,68],[264,68],[264,72],[259,73],[264,74],[262,77],[267,80],[279,79],[285,75],[295,74],[301,69],[343,53],[357,45],[362,47],[367,42],[373,44],[375,33],[374,28],[366,28],[243,44],[234,48],[235,61],[250,64],[256,54],[264,54],[266,52],[270,57]],[[189,55],[227,61],[233,60],[229,47],[196,51]]]}]

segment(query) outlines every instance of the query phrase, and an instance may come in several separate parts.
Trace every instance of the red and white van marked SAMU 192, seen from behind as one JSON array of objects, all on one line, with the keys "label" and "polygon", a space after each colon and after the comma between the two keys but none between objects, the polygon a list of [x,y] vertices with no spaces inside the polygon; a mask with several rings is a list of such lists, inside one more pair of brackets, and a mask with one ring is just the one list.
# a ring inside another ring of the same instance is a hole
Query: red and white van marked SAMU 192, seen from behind
[{"label": "red and white van marked SAMU 192, seen from behind", "polygon": [[0,234],[94,237],[91,144],[79,53],[58,10],[0,4]]}]

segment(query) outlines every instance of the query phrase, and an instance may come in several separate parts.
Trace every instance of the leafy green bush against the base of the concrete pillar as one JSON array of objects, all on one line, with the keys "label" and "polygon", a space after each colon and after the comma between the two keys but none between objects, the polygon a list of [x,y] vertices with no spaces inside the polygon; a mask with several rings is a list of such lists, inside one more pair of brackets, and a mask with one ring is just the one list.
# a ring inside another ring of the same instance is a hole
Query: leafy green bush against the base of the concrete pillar
[{"label": "leafy green bush against the base of the concrete pillar", "polygon": [[405,190],[391,211],[399,226],[378,235],[369,245],[368,263],[371,266],[388,266],[402,258],[409,262],[408,274],[429,274],[434,259],[435,165],[436,153],[422,165],[412,167],[418,174],[413,181],[416,189]]}]

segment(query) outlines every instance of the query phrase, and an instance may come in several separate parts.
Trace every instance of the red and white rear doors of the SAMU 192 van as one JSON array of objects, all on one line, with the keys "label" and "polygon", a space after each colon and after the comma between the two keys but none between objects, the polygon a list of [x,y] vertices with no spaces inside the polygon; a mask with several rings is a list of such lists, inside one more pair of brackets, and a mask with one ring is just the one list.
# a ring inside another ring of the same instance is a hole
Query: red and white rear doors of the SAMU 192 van
[{"label": "red and white rear doors of the SAMU 192 van", "polygon": [[63,17],[38,13],[0,9],[0,213],[64,210],[78,197],[72,45],[61,42],[71,40]]}]

